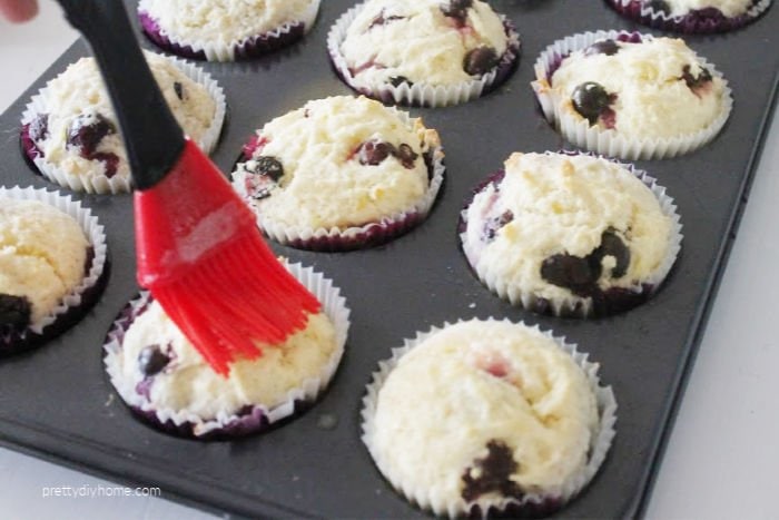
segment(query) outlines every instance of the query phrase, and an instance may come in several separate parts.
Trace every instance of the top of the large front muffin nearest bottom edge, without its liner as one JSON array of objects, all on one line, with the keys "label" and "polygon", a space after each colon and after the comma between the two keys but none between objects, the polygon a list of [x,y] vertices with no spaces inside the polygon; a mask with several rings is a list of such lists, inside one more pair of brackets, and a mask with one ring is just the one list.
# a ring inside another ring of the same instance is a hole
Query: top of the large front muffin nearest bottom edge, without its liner
[{"label": "top of the large front muffin nearest bottom edge, without its liner", "polygon": [[366,443],[406,494],[465,511],[476,500],[559,494],[583,471],[598,430],[593,386],[554,340],[474,320],[398,360]]}]

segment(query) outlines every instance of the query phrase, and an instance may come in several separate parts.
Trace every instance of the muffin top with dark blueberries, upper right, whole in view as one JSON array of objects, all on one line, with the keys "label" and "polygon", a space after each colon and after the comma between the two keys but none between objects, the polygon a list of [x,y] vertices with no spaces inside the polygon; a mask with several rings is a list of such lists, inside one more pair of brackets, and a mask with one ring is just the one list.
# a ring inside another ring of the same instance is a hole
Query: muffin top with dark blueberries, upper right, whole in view
[{"label": "muffin top with dark blueberries, upper right, whole in view", "polygon": [[634,139],[694,134],[724,110],[724,81],[680,39],[598,41],[564,58],[545,87],[565,115]]}]

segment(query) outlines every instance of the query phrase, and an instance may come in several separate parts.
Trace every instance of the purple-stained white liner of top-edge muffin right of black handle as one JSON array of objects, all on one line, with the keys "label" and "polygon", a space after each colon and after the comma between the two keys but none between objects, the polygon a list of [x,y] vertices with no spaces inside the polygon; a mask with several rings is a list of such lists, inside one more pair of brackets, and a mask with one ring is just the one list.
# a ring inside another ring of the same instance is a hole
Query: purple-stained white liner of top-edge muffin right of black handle
[{"label": "purple-stained white liner of top-edge muffin right of black handle", "polygon": [[[144,31],[152,38],[152,41],[158,46],[162,47],[167,51],[176,52],[184,56],[185,58],[193,59],[206,59],[208,61],[235,61],[236,59],[252,58],[265,53],[265,50],[258,49],[259,42],[278,42],[274,46],[272,50],[277,47],[284,47],[286,45],[292,45],[302,38],[303,35],[307,33],[312,27],[314,27],[314,21],[319,12],[319,0],[315,0],[306,8],[304,12],[300,13],[299,19],[288,21],[280,27],[264,32],[262,35],[256,35],[243,39],[231,39],[229,41],[214,41],[214,40],[193,40],[187,41],[172,35],[164,29],[159,29],[159,37],[167,40],[167,45],[161,45],[157,35],[151,35],[147,29],[146,23],[142,18],[148,17],[155,23],[156,20],[151,14],[149,14],[148,1],[140,0],[138,3],[138,13],[141,17],[141,24],[144,26]],[[296,30],[299,30],[299,26],[303,24],[303,33],[298,36],[294,35]]]}]

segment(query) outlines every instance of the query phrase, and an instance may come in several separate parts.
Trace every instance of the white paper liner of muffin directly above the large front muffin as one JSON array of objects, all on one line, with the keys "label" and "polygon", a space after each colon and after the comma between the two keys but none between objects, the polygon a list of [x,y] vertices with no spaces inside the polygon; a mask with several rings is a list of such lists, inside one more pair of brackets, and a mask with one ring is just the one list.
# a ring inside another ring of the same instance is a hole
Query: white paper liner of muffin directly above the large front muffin
[{"label": "white paper liner of muffin directly above the large front muffin", "polygon": [[[563,151],[563,154],[570,154],[572,156],[580,155],[580,153],[575,151]],[[546,151],[545,155],[554,154],[551,151]],[[677,205],[673,202],[673,198],[671,198],[668,195],[665,188],[663,186],[660,186],[657,183],[657,179],[647,174],[647,171],[638,169],[631,164],[620,163],[618,160],[602,156],[596,156],[594,154],[583,155],[590,155],[603,160],[609,160],[611,163],[618,164],[627,168],[649,189],[652,190],[652,194],[660,204],[660,208],[663,215],[671,219],[671,229],[668,236],[665,257],[663,258],[662,263],[658,266],[658,268],[649,276],[647,276],[647,278],[641,279],[631,286],[617,286],[617,288],[622,294],[621,297],[625,300],[624,302],[617,300],[617,302],[613,305],[618,308],[596,312],[598,310],[595,308],[592,297],[582,297],[576,296],[574,294],[559,298],[540,297],[532,291],[526,291],[522,287],[507,284],[500,276],[496,269],[492,269],[491,266],[486,265],[485,262],[479,262],[479,251],[476,249],[476,247],[474,247],[473,244],[471,244],[471,242],[467,239],[467,234],[463,230],[460,234],[460,239],[463,246],[463,253],[465,254],[465,257],[467,258],[469,264],[473,268],[474,273],[476,273],[479,279],[490,291],[497,294],[503,300],[507,300],[509,302],[511,302],[512,305],[517,305],[533,312],[552,314],[554,316],[580,318],[592,317],[593,314],[607,315],[627,311],[642,303],[643,301],[649,300],[660,288],[663,281],[668,276],[668,273],[671,271],[671,267],[673,267],[673,263],[679,256],[683,238],[683,235],[681,233],[682,225],[679,217],[679,213],[677,212]],[[467,206],[470,205],[471,202],[469,202]],[[467,224],[467,206],[461,213],[463,224]],[[608,297],[608,291],[609,290],[607,290],[605,297]],[[620,308],[620,304],[623,304],[624,307]]]}]

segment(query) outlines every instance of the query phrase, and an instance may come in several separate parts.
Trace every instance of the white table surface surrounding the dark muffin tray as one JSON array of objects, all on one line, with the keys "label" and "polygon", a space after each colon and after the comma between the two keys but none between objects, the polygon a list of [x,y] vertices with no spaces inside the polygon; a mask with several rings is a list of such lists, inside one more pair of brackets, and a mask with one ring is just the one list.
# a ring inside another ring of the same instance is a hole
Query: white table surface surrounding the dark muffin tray
[{"label": "white table surface surrounding the dark muffin tray", "polygon": [[[0,112],[70,46],[53,2],[0,20]],[[0,159],[1,160],[1,159]],[[779,117],[775,118],[650,501],[650,519],[779,518]],[[749,305],[745,303],[749,302]],[[43,487],[111,482],[0,448],[3,518],[210,518],[167,500],[42,498]]]}]

